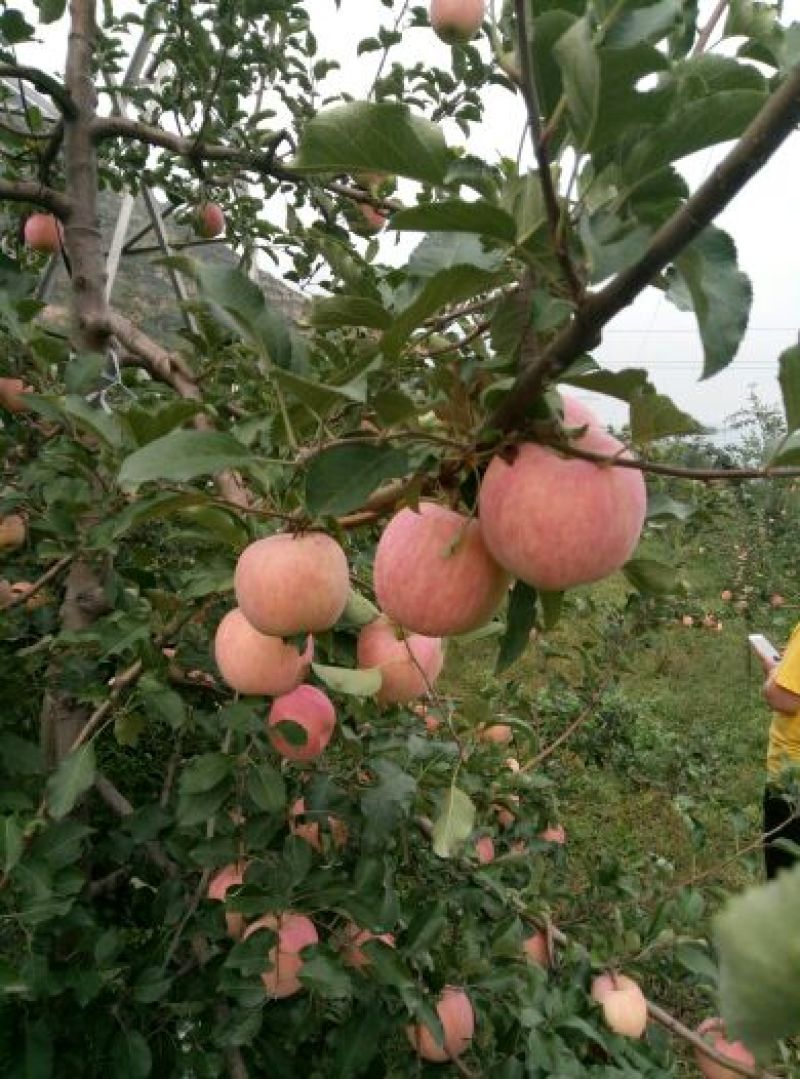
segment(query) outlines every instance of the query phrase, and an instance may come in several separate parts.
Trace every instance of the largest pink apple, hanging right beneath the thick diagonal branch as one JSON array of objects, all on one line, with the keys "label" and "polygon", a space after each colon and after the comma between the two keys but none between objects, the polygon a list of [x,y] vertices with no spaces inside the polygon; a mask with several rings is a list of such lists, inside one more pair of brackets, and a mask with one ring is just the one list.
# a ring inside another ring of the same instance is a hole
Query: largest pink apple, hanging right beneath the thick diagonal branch
[{"label": "largest pink apple, hanging right beneath the thick diagonal branch", "polygon": [[[579,449],[616,456],[623,446],[588,409],[564,398],[565,425],[587,425]],[[486,546],[509,573],[546,591],[588,584],[633,555],[647,510],[640,472],[564,456],[534,442],[492,459],[478,498]]]}]

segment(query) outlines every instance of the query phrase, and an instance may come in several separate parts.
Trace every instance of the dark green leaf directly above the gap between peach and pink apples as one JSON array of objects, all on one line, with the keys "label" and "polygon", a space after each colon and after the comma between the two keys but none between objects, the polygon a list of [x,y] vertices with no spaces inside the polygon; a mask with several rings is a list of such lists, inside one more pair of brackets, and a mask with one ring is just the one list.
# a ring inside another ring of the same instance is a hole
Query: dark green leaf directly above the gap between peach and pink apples
[{"label": "dark green leaf directly above the gap between peach and pink apples", "polygon": [[315,516],[338,516],[363,506],[388,479],[410,470],[405,450],[383,442],[331,446],[306,469],[306,506]]}]

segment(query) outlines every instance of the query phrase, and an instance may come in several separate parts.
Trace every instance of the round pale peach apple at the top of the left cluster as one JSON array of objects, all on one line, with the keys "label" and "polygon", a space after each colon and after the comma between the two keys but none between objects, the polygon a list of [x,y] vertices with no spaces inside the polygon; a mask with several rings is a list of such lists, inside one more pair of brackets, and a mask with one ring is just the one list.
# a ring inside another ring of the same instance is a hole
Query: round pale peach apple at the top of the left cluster
[{"label": "round pale peach apple at the top of the left cluster", "polygon": [[242,614],[259,632],[321,633],[347,606],[348,560],[336,540],[323,532],[267,536],[242,551],[233,587]]}]

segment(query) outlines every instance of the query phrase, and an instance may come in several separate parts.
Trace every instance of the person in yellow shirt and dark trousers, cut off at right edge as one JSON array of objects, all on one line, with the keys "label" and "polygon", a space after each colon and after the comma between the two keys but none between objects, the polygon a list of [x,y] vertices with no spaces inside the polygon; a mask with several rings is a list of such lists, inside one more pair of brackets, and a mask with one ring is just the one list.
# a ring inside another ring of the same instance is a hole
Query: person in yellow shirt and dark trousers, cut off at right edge
[{"label": "person in yellow shirt and dark trousers, cut off at right edge", "polygon": [[764,790],[764,866],[768,879],[779,870],[789,869],[795,857],[774,846],[778,838],[800,846],[800,816],[787,797],[784,779],[789,769],[800,776],[800,623],[791,631],[779,659],[763,659],[767,679],[762,694],[773,711],[767,750],[767,788]]}]

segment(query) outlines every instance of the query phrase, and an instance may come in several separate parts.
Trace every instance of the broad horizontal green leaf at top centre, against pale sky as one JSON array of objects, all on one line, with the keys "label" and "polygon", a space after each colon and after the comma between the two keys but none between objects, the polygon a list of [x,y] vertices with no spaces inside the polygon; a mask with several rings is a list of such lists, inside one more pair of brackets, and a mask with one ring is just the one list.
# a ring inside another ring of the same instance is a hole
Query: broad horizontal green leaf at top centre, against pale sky
[{"label": "broad horizontal green leaf at top centre, against pale sky", "polygon": [[393,101],[353,101],[316,113],[290,167],[317,173],[365,169],[440,183],[447,162],[438,124]]}]

